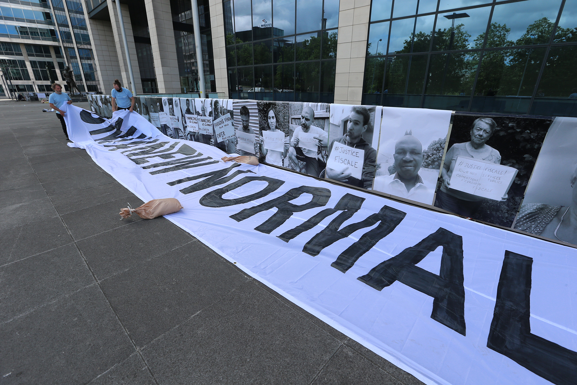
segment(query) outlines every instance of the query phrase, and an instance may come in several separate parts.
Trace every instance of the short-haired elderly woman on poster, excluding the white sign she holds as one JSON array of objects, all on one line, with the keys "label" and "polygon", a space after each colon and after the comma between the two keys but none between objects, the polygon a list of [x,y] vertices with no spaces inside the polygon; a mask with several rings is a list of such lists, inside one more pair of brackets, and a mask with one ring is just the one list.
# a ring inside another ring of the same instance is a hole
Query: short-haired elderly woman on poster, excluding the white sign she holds
[{"label": "short-haired elderly woman on poster, excluding the white sign she holds", "polygon": [[[459,156],[501,164],[499,151],[486,144],[487,140],[493,136],[496,128],[497,123],[489,117],[475,119],[470,131],[471,140],[465,143],[455,143],[447,151],[445,163],[443,169],[441,169],[443,182],[441,188],[437,191],[435,206],[464,217],[473,217],[475,215],[486,198],[455,190],[451,188],[450,180]],[[507,200],[507,197],[503,197],[503,199]]]}]

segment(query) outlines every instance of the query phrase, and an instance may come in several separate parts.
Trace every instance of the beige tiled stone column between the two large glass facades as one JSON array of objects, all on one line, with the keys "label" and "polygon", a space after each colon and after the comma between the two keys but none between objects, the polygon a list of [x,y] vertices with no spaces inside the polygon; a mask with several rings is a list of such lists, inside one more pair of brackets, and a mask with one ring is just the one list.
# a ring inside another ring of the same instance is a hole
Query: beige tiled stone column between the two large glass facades
[{"label": "beige tiled stone column between the two large glass facades", "polygon": [[361,104],[370,0],[340,0],[335,103]]}]

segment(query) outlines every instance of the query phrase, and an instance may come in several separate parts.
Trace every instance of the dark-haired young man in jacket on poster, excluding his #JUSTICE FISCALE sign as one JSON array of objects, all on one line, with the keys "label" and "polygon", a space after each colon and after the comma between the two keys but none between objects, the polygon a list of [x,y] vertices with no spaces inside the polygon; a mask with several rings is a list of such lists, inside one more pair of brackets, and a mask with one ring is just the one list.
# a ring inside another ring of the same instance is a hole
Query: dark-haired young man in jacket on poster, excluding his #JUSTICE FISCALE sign
[{"label": "dark-haired young man in jacket on poster, excluding his #JUSTICE FISCALE sign", "polygon": [[326,176],[329,179],[372,190],[374,172],[376,170],[377,151],[362,138],[362,134],[369,127],[369,120],[370,113],[365,106],[353,106],[347,123],[347,133],[340,138],[332,140],[329,146],[329,154],[335,142],[364,151],[365,158],[362,165],[361,179],[352,177],[348,167],[340,171],[327,167]]}]

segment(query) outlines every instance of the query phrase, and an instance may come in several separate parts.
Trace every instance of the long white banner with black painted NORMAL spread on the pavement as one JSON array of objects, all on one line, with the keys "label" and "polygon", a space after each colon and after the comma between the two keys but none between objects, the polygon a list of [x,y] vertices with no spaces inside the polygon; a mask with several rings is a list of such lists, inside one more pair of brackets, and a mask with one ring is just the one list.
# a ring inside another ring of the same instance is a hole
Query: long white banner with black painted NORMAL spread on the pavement
[{"label": "long white banner with black painted NORMAL spread on the pavement", "polygon": [[266,165],[128,111],[74,146],[250,276],[427,384],[575,384],[577,250]]}]

